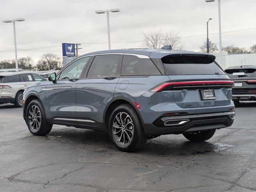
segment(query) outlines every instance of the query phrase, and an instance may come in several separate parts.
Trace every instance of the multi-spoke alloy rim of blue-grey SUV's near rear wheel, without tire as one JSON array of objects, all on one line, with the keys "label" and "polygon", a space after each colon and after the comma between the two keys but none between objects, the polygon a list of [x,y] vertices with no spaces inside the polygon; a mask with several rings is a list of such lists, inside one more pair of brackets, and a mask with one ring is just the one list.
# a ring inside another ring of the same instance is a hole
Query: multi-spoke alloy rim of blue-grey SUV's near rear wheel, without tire
[{"label": "multi-spoke alloy rim of blue-grey SUV's near rear wheel, without tire", "polygon": [[113,134],[117,142],[121,145],[127,145],[133,138],[133,121],[131,117],[125,113],[118,113],[113,121]]}]

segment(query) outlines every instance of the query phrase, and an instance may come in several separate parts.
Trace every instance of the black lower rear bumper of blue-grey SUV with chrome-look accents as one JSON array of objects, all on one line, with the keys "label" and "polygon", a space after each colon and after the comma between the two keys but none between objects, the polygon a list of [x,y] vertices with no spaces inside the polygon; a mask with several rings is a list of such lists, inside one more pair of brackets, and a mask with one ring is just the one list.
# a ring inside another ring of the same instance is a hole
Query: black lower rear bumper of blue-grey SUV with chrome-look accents
[{"label": "black lower rear bumper of blue-grey SUV with chrome-look accents", "polygon": [[[220,129],[231,126],[234,122],[234,115],[235,112],[230,111],[182,116],[160,116],[153,124],[143,124],[143,128],[145,134],[150,136]],[[166,126],[164,123],[167,121],[177,123],[173,124],[173,126]],[[182,124],[177,125],[178,122],[182,122]]]}]

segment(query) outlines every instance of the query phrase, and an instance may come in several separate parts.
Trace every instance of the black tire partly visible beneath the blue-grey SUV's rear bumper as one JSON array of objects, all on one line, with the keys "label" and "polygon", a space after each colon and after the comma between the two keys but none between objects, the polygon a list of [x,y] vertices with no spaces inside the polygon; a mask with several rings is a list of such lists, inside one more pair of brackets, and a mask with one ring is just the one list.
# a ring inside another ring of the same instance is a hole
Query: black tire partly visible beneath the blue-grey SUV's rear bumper
[{"label": "black tire partly visible beneath the blue-grey SUV's rear bumper", "polygon": [[183,134],[183,136],[190,141],[202,142],[212,138],[215,131],[216,130],[214,129],[214,130],[208,130],[208,131],[201,131],[197,133],[186,133],[186,134]]}]

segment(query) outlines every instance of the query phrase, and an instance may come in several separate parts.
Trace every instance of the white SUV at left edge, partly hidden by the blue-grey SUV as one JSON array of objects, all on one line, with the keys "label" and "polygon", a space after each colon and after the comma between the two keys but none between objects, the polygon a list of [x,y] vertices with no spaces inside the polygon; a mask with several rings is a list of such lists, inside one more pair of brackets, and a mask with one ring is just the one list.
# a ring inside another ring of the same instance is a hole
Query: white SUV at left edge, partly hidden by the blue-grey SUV
[{"label": "white SUV at left edge, partly hidden by the blue-grey SUV", "polygon": [[22,107],[24,90],[36,81],[44,81],[35,72],[2,72],[0,73],[0,104],[13,103]]}]

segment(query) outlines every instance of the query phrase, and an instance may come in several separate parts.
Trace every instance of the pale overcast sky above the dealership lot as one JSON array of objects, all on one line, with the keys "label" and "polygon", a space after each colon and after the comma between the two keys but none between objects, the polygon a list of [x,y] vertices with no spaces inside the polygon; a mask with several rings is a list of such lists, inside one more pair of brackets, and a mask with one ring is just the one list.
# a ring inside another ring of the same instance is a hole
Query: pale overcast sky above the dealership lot
[{"label": "pale overcast sky above the dealership lot", "polygon": [[[198,51],[206,40],[219,46],[218,1],[205,0],[0,0],[0,19],[23,17],[16,22],[18,57],[38,60],[46,52],[62,56],[61,43],[83,43],[79,54],[106,50],[106,14],[95,10],[119,8],[109,13],[111,48],[140,48],[142,32],[173,30],[185,50]],[[249,48],[256,44],[256,0],[221,0],[222,45]],[[251,29],[252,28],[252,29]],[[240,30],[240,31],[236,31]],[[230,32],[236,31],[236,32]],[[226,33],[225,33],[226,32]],[[201,36],[200,36],[201,35]],[[190,37],[189,37],[190,36]],[[193,36],[193,37],[191,37]],[[121,43],[120,43],[121,42]],[[94,44],[91,44],[94,43]],[[0,60],[14,58],[11,23],[0,22]],[[42,48],[43,47],[43,48]]]}]

